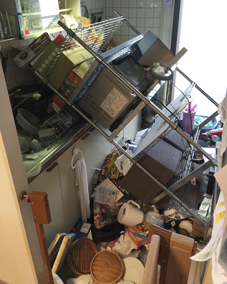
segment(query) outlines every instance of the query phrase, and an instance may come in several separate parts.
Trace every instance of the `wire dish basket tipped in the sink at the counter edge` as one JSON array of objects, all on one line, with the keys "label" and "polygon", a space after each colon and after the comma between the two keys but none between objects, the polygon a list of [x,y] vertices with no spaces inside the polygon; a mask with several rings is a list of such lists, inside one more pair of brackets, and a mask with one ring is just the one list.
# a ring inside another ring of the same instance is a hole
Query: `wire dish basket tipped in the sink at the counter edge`
[{"label": "wire dish basket tipped in the sink at the counter edge", "polygon": [[46,120],[35,135],[35,139],[43,147],[48,147],[69,130],[77,121],[78,116],[69,107],[63,108],[60,112]]}]

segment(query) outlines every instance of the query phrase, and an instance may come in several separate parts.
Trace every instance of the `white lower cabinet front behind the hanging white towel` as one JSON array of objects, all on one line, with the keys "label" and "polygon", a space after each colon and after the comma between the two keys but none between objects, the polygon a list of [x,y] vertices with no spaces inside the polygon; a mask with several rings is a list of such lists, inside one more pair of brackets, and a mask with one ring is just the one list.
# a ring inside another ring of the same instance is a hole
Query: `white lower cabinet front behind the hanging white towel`
[{"label": "white lower cabinet front behind the hanging white towel", "polygon": [[[97,130],[94,130],[88,131],[57,158],[67,231],[70,231],[81,217],[79,190],[75,184],[75,169],[71,168],[71,158],[75,147],[79,148],[84,156],[89,194],[92,194],[92,178],[95,169],[102,167],[106,155],[111,152],[111,144]],[[80,157],[79,153],[74,161]]]}]

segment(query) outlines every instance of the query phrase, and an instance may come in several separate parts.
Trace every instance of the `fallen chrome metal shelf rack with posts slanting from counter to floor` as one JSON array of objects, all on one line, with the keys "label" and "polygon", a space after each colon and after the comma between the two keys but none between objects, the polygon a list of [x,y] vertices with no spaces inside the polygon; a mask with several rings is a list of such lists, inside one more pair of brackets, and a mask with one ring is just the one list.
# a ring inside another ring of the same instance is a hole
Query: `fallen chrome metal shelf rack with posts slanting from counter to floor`
[{"label": "fallen chrome metal shelf rack with posts slanting from counter to floor", "polygon": [[[148,99],[148,97],[154,97],[158,89],[161,87],[161,85],[164,83],[164,81],[156,82],[156,84],[153,84],[153,88],[149,92],[149,94],[145,97],[142,93],[140,93],[131,83],[129,83],[127,80],[125,80],[112,66],[110,66],[110,62],[118,57],[123,57],[125,54],[130,53],[132,50],[133,45],[139,41],[141,38],[143,38],[143,34],[141,34],[136,28],[134,28],[121,14],[119,14],[117,11],[114,11],[117,14],[117,18],[106,20],[100,23],[91,24],[89,26],[80,27],[75,30],[71,30],[67,28],[61,21],[58,22],[58,24],[67,32],[65,36],[65,40],[62,42],[61,46],[59,47],[59,51],[57,52],[57,55],[55,59],[52,62],[52,65],[50,66],[45,78],[40,76],[37,72],[34,72],[36,76],[38,76],[42,82],[44,82],[46,85],[48,85],[59,97],[61,97],[66,104],[76,113],[81,115],[90,125],[92,125],[96,130],[98,130],[110,143],[112,143],[117,149],[119,149],[131,162],[136,164],[143,172],[145,172],[153,181],[155,181],[163,190],[162,193],[160,193],[154,200],[153,203],[157,202],[161,198],[163,198],[165,195],[170,195],[175,201],[177,201],[181,206],[183,206],[188,212],[191,213],[192,216],[197,218],[203,225],[207,224],[207,221],[203,220],[201,217],[195,214],[193,210],[191,210],[187,204],[183,203],[176,195],[174,195],[174,190],[178,189],[181,185],[187,183],[190,181],[191,178],[194,178],[201,172],[203,172],[205,169],[209,168],[212,165],[217,165],[217,161],[209,156],[198,144],[197,140],[199,137],[200,129],[207,124],[210,120],[212,120],[215,116],[217,116],[217,111],[214,112],[209,118],[207,118],[203,123],[201,123],[197,128],[193,130],[193,137],[188,136],[185,134],[180,128],[178,128],[178,125],[175,122],[172,122],[165,114],[162,113],[162,111],[151,101]],[[102,53],[105,48],[107,47],[110,40],[113,38],[117,28],[121,26],[122,23],[127,24],[136,34],[138,35],[134,39],[127,41],[109,51],[106,51]],[[92,43],[89,43],[89,35],[94,36],[96,33],[96,40]],[[79,85],[77,86],[77,89],[72,97],[70,97],[68,100],[59,93],[53,86],[51,86],[47,80],[48,75],[51,73],[51,70],[53,70],[53,67],[55,66],[60,54],[68,49],[73,48],[76,46],[82,45],[87,51],[91,53],[91,55],[95,58],[94,63],[89,69],[89,72],[87,72],[84,76],[84,78],[81,80]],[[102,56],[100,54],[102,53]],[[85,93],[86,89],[90,86],[94,78],[97,76],[98,72],[102,69],[106,68],[108,69],[111,74],[115,76],[116,81],[119,81],[127,87],[131,93],[135,93],[137,97],[139,97],[140,102],[139,104],[131,111],[131,113],[123,120],[123,122],[114,130],[110,135],[107,135],[102,129],[100,129],[94,121],[92,121],[90,118],[84,114],[80,108],[77,107],[76,102],[82,97],[82,95]],[[205,93],[195,82],[193,82],[187,75],[185,75],[179,68],[174,65],[172,70],[177,70],[184,78],[186,78],[191,83],[191,89],[188,93],[188,97],[190,97],[190,93],[193,90],[193,88],[197,88],[207,99],[209,99],[215,106],[218,107],[218,104],[211,98],[207,93]],[[150,106],[162,119],[164,119],[168,124],[169,128],[166,129],[157,139],[154,141],[151,141],[151,143],[143,149],[137,156],[131,157],[123,148],[121,148],[117,142],[114,141],[114,138],[121,132],[121,130],[139,113],[139,111],[145,106]],[[180,117],[181,113],[178,114],[178,117]],[[191,148],[193,150],[187,149],[187,151],[184,153],[185,158],[181,160],[179,166],[178,166],[178,172],[175,175],[174,179],[168,184],[163,185],[161,184],[154,176],[152,176],[143,166],[141,166],[138,162],[139,158],[145,154],[149,149],[151,149],[160,139],[162,139],[165,135],[167,135],[172,129],[176,130],[183,138],[187,140],[187,142],[191,145]],[[208,161],[199,166],[197,169],[190,172],[191,168],[191,162],[192,159],[191,155],[194,153],[194,148],[199,150],[200,153],[202,153]],[[189,152],[190,151],[190,152]]]}]

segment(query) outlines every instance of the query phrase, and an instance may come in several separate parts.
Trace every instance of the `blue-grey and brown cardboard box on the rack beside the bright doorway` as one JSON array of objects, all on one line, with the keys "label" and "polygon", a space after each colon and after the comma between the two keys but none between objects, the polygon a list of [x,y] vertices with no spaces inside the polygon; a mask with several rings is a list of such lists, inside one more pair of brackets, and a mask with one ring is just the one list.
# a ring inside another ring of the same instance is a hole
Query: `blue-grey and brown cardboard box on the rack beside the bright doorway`
[{"label": "blue-grey and brown cardboard box on the rack beside the bright doorway", "polygon": [[145,34],[130,55],[144,66],[152,66],[155,62],[169,63],[174,58],[174,54],[151,31]]}]

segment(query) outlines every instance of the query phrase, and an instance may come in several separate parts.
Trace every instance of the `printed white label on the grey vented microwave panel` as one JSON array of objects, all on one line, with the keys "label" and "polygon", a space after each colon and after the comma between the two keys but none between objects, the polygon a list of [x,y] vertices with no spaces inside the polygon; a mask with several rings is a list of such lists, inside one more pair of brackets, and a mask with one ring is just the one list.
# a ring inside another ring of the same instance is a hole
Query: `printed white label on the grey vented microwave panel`
[{"label": "printed white label on the grey vented microwave panel", "polygon": [[100,106],[114,118],[128,101],[117,89],[113,88]]}]

